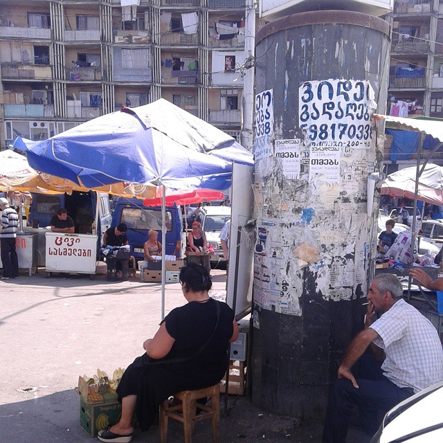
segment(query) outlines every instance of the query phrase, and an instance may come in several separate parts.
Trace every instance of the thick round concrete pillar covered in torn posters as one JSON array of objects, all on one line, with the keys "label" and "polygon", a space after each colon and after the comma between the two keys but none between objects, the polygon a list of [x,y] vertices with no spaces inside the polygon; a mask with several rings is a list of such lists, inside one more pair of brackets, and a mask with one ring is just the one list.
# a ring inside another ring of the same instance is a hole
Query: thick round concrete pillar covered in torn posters
[{"label": "thick round concrete pillar covered in torn posters", "polygon": [[374,267],[367,179],[382,157],[370,106],[385,111],[389,26],[303,12],[256,41],[253,401],[323,419]]}]

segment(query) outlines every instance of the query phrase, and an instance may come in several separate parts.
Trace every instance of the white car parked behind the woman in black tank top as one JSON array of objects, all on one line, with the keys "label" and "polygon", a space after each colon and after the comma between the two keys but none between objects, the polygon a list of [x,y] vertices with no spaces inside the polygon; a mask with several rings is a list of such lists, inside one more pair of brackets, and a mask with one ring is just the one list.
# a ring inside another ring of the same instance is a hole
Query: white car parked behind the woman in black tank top
[{"label": "white car parked behind the woman in black tank top", "polygon": [[229,206],[202,206],[197,213],[196,220],[201,223],[201,229],[206,234],[208,246],[212,245],[214,248],[215,254],[211,257],[213,264],[223,260],[223,249],[219,235],[228,219],[230,219]]}]

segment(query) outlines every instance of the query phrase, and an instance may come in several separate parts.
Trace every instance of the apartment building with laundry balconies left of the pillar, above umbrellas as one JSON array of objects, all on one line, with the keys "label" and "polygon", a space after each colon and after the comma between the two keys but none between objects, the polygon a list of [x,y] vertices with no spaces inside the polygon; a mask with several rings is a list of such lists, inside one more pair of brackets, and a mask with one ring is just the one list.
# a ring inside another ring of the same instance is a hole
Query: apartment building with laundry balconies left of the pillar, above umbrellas
[{"label": "apartment building with laundry balconies left of the pillar, above umbrellas", "polygon": [[0,147],[158,98],[239,136],[245,0],[0,0]]}]

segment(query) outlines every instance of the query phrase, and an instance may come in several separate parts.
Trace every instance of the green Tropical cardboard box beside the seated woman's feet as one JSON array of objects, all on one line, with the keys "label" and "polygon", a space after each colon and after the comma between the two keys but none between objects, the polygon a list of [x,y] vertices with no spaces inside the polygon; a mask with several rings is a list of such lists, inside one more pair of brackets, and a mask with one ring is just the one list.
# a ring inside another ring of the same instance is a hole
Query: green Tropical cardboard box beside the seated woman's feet
[{"label": "green Tropical cardboard box beside the seated woman's feet", "polygon": [[122,405],[118,401],[91,404],[80,397],[80,426],[91,437],[96,437],[98,431],[116,424],[121,413]]}]

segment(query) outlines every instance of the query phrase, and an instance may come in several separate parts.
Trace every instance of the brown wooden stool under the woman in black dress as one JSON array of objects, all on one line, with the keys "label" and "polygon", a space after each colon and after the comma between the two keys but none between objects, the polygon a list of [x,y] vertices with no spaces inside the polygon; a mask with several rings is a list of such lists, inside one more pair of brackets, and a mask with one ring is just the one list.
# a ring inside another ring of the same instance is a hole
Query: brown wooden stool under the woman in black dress
[{"label": "brown wooden stool under the woman in black dress", "polygon": [[[197,403],[198,399],[210,397],[210,406]],[[174,400],[181,401],[180,404],[169,406],[165,400],[160,405],[160,441],[166,443],[168,440],[168,419],[172,418],[183,423],[184,441],[191,443],[192,431],[195,422],[204,419],[212,419],[214,442],[219,442],[220,422],[220,384],[217,383],[209,388],[198,390],[183,390],[174,394]],[[197,415],[197,408],[203,412]]]}]

